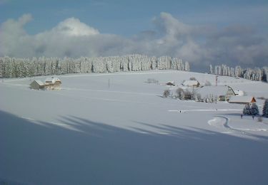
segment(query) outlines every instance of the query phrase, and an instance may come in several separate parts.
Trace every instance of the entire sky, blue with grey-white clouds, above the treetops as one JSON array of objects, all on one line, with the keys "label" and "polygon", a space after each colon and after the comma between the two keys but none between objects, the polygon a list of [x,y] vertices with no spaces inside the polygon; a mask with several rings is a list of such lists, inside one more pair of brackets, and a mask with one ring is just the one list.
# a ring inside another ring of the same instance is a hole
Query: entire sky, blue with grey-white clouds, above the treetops
[{"label": "entire sky, blue with grey-white clouds, above the treetops", "polygon": [[268,1],[0,0],[0,57],[172,56],[268,64]]}]

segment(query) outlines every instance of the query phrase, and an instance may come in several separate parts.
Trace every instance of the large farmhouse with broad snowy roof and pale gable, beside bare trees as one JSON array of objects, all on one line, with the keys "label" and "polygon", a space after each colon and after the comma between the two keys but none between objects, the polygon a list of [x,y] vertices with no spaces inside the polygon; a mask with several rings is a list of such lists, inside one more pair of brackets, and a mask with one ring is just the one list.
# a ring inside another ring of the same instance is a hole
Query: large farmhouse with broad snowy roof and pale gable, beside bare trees
[{"label": "large farmhouse with broad snowy roof and pale gable, beside bare trees", "polygon": [[202,98],[217,98],[217,101],[228,101],[230,97],[235,96],[234,90],[227,85],[204,86],[197,90],[197,94],[201,95]]}]

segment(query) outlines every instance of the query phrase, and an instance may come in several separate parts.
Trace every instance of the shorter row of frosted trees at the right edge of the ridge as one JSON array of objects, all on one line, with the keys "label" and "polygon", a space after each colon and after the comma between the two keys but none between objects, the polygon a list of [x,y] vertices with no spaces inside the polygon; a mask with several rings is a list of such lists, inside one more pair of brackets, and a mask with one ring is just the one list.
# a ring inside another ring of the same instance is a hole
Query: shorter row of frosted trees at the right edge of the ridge
[{"label": "shorter row of frosted trees at the right edge of the ridge", "polygon": [[264,66],[262,68],[241,68],[237,65],[235,68],[229,67],[227,65],[209,65],[209,73],[214,75],[224,75],[245,78],[247,80],[257,80],[267,82],[268,78],[268,67]]}]

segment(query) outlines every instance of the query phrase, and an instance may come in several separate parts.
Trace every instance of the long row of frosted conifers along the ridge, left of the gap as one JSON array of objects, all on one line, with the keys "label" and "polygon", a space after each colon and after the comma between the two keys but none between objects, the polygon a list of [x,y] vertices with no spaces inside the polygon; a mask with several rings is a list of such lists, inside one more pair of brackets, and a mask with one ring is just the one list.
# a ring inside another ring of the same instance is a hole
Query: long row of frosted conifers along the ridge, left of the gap
[{"label": "long row of frosted conifers along the ridge, left of the gap", "polygon": [[81,58],[0,58],[0,78],[23,78],[68,73],[113,73],[140,70],[190,70],[182,59],[129,55]]}]

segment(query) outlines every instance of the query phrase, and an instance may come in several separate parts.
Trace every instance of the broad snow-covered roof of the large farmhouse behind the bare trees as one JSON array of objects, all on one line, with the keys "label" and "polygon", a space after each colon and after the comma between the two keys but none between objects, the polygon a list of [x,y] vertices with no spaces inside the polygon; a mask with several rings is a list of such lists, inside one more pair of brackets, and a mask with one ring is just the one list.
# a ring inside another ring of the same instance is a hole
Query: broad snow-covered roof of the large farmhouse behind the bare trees
[{"label": "broad snow-covered roof of the large farmhouse behind the bare trees", "polygon": [[207,95],[213,96],[221,96],[226,95],[227,91],[229,90],[229,86],[219,85],[219,86],[204,86],[197,90],[197,93],[201,95],[201,97],[206,97]]}]

